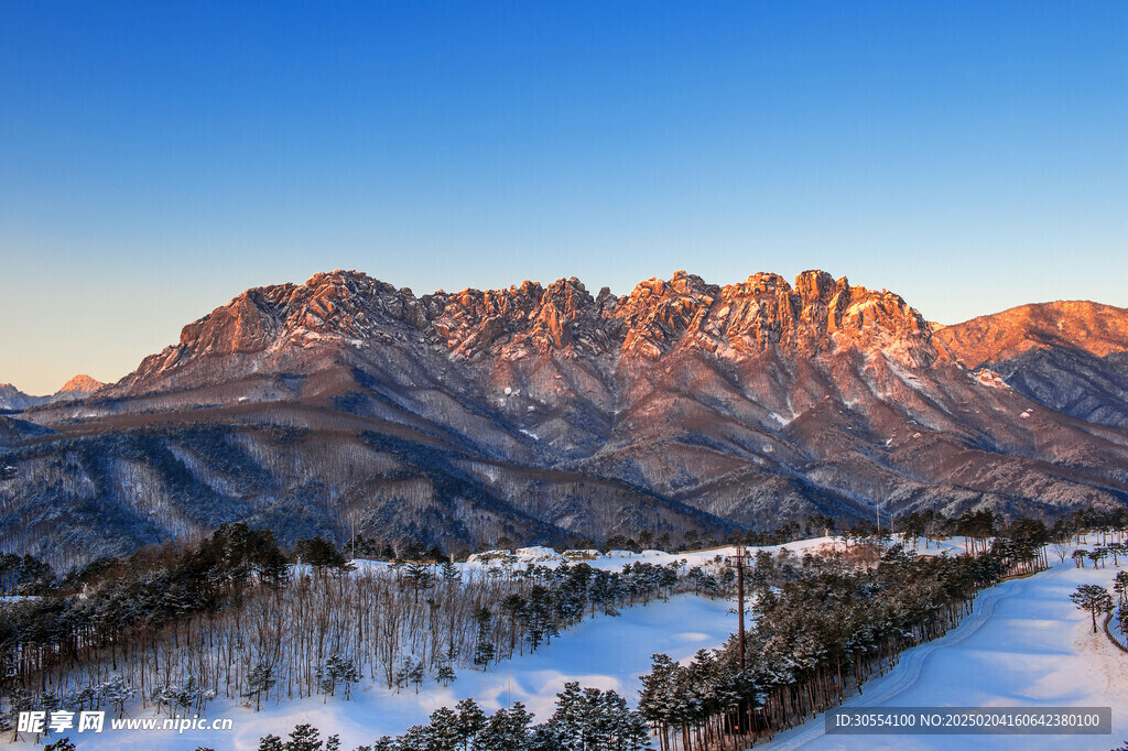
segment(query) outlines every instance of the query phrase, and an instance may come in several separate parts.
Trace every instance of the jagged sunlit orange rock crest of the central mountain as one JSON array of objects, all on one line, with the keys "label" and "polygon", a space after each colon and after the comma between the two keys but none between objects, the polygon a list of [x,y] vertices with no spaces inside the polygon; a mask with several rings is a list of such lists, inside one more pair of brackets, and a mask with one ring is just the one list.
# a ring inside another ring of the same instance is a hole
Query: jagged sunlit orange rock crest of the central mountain
[{"label": "jagged sunlit orange rock crest of the central mountain", "polygon": [[[642,281],[620,298],[606,288],[592,297],[574,276],[547,286],[527,280],[416,298],[409,289],[337,270],[305,284],[244,292],[185,326],[177,345],[148,357],[126,382],[176,372],[201,357],[276,360],[306,348],[389,344],[429,352],[438,345],[452,360],[474,361],[614,352],[654,360],[679,347],[739,360],[768,350],[813,354],[855,346],[919,365],[936,357],[929,337],[928,325],[900,297],[818,270],[799,274],[794,286],[759,273],[724,288],[678,271],[669,280]],[[608,360],[598,369],[614,366]]]}]

